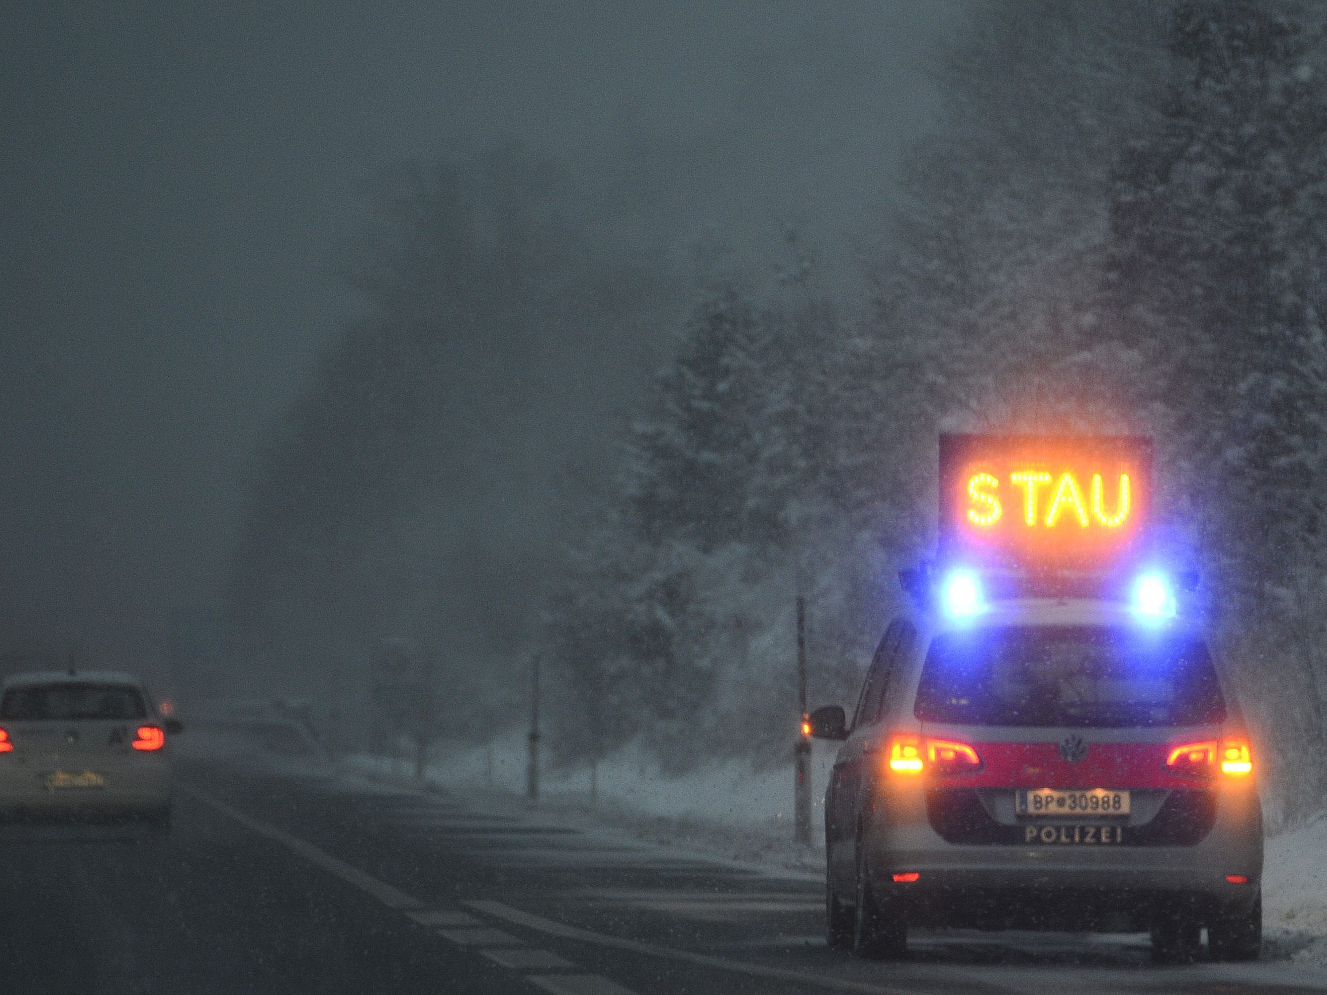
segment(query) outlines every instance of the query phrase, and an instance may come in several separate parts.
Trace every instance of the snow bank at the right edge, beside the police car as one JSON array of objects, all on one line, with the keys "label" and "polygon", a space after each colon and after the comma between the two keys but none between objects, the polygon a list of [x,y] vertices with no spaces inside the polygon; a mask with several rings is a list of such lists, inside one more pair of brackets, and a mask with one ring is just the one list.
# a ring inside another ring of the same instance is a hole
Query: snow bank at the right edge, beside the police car
[{"label": "snow bank at the right edge, beside the police car", "polygon": [[1327,812],[1267,840],[1262,901],[1267,954],[1327,966]]}]

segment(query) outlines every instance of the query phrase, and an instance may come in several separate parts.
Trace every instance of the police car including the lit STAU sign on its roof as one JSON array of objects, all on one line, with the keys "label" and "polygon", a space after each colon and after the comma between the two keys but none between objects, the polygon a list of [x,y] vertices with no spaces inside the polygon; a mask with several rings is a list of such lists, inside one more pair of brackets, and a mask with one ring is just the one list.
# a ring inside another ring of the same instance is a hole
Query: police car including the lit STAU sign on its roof
[{"label": "police car including the lit STAU sign on its roof", "polygon": [[880,642],[825,793],[832,946],[910,926],[1262,942],[1255,754],[1147,535],[1145,439],[943,436],[936,563]]}]

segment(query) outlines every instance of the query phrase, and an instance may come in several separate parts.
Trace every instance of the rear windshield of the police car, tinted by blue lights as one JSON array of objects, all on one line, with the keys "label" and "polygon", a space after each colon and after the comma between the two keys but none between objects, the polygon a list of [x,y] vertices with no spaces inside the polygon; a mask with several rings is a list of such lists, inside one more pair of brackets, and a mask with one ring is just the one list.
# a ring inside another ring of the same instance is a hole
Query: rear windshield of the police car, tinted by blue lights
[{"label": "rear windshield of the police car, tinted by blue lights", "polygon": [[1107,626],[1009,626],[938,635],[916,715],[971,726],[1221,722],[1202,642]]}]

